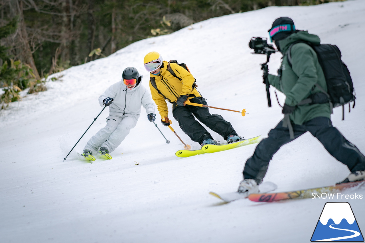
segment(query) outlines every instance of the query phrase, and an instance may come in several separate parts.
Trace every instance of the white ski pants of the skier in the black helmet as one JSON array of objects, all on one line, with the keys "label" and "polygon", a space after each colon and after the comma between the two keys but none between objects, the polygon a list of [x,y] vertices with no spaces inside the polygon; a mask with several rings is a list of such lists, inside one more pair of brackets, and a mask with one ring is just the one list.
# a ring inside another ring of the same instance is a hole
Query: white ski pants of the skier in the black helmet
[{"label": "white ski pants of the skier in the black helmet", "polygon": [[84,149],[97,151],[100,147],[107,147],[111,153],[136,124],[137,119],[133,116],[110,115],[107,118],[107,125],[89,139]]}]

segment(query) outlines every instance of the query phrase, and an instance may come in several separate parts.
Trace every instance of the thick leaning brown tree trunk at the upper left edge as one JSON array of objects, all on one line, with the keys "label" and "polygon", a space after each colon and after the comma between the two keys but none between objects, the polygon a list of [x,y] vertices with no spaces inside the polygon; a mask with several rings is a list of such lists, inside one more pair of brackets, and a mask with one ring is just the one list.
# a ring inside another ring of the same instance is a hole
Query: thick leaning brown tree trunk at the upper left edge
[{"label": "thick leaning brown tree trunk at the upper left edge", "polygon": [[11,0],[9,1],[9,6],[12,10],[12,17],[19,16],[18,30],[16,30],[15,36],[16,42],[19,44],[16,46],[16,56],[20,59],[20,61],[27,63],[33,70],[35,77],[40,79],[28,42],[28,33],[23,15],[23,2],[22,0]]}]

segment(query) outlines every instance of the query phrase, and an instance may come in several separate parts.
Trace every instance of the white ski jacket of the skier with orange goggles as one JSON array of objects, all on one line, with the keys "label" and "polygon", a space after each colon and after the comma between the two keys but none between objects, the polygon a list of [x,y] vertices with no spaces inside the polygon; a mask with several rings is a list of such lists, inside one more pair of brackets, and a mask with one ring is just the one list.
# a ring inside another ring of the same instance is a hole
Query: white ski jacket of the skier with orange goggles
[{"label": "white ski jacket of the skier with orange goggles", "polygon": [[99,97],[99,104],[104,107],[103,100],[107,97],[113,98],[113,103],[109,106],[109,115],[118,116],[133,116],[138,120],[141,113],[141,105],[146,109],[146,113],[155,114],[155,104],[152,100],[151,94],[147,92],[147,89],[140,85],[142,77],[139,76],[137,85],[134,89],[130,90],[123,80],[111,85],[105,92]]}]

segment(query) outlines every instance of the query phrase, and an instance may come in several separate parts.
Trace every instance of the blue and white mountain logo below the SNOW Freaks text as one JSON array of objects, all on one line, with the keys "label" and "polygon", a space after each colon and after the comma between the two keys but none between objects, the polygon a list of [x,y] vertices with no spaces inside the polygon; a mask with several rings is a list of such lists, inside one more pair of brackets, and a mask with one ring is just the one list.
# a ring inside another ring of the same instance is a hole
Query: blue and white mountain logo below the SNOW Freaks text
[{"label": "blue and white mountain logo below the SNOW Freaks text", "polygon": [[348,202],[327,202],[314,229],[311,242],[364,242]]}]

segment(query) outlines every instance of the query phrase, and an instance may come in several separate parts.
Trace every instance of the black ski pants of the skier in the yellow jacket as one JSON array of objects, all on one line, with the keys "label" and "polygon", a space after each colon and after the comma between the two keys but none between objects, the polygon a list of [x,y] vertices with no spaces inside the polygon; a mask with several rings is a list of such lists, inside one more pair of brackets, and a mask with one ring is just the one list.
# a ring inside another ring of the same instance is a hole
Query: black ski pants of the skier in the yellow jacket
[{"label": "black ski pants of the skier in the yellow jacket", "polygon": [[[203,97],[190,99],[192,103],[207,105]],[[173,104],[172,115],[178,121],[181,130],[187,134],[191,140],[203,143],[205,139],[212,138],[212,135],[197,121],[195,117],[205,126],[221,135],[227,140],[230,135],[237,135],[231,123],[224,120],[222,116],[209,113],[208,107],[199,107],[193,105],[176,105]],[[195,116],[195,117],[194,117]]]}]

